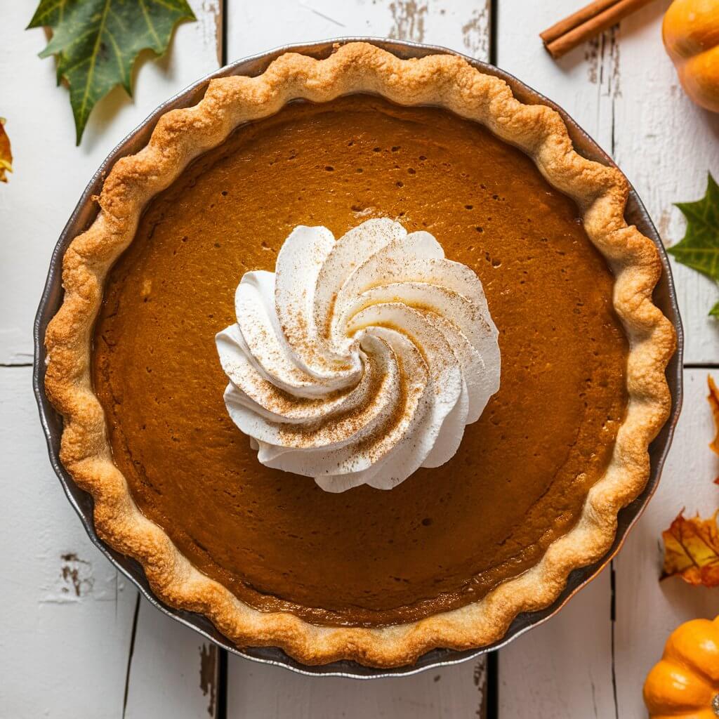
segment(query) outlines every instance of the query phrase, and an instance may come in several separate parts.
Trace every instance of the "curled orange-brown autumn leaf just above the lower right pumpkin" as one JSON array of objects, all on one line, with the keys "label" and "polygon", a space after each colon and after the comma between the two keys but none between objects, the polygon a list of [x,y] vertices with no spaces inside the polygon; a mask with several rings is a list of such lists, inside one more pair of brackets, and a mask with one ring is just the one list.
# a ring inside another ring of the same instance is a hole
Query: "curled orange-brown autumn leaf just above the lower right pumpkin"
[{"label": "curled orange-brown autumn leaf just above the lower right pumpkin", "polygon": [[687,519],[679,512],[672,526],[661,533],[664,567],[661,579],[682,577],[684,582],[719,587],[719,529],[715,512],[711,519]]}]

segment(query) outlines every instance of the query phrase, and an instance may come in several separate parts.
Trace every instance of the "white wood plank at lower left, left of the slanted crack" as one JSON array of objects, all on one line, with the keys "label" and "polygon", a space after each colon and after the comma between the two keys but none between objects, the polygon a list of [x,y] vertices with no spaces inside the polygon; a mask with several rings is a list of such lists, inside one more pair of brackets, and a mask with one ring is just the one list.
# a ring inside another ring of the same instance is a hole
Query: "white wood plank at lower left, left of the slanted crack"
[{"label": "white wood plank at lower left, left of the slanted crack", "polygon": [[31,375],[0,368],[0,714],[117,719],[135,591],[92,546],[50,468]]}]

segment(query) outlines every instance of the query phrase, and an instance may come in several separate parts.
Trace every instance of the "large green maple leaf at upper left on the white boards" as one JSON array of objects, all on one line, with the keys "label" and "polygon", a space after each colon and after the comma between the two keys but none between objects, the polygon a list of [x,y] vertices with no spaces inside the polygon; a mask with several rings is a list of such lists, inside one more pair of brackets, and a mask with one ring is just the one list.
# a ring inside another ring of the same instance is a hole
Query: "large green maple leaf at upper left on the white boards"
[{"label": "large green maple leaf at upper left on the white boards", "polygon": [[142,50],[168,49],[175,24],[194,20],[186,0],[40,0],[27,27],[51,27],[41,58],[58,57],[58,84],[70,86],[76,144],[96,102],[116,85],[132,97],[132,66]]}]

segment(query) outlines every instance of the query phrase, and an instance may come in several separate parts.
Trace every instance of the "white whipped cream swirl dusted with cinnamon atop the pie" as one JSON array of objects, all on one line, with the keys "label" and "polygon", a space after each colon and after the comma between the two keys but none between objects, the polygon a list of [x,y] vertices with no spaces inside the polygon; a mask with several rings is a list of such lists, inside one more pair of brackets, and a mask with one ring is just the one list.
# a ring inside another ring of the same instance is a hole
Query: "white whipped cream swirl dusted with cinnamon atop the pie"
[{"label": "white whipped cream swirl dusted with cinnamon atop the pie", "polygon": [[274,273],[242,277],[235,310],[216,336],[232,421],[262,464],[329,492],[444,464],[499,388],[479,278],[390,219],[339,239],[296,227]]}]

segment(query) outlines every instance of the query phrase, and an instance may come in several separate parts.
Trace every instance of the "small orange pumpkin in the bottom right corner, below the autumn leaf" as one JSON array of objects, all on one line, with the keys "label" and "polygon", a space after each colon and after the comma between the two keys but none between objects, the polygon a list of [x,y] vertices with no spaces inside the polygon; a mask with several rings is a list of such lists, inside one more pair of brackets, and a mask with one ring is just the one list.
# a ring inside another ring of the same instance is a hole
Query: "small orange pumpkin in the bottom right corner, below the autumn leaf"
[{"label": "small orange pumpkin in the bottom right corner, below the autumn leaf", "polygon": [[644,682],[651,719],[719,717],[719,617],[675,629]]}]

